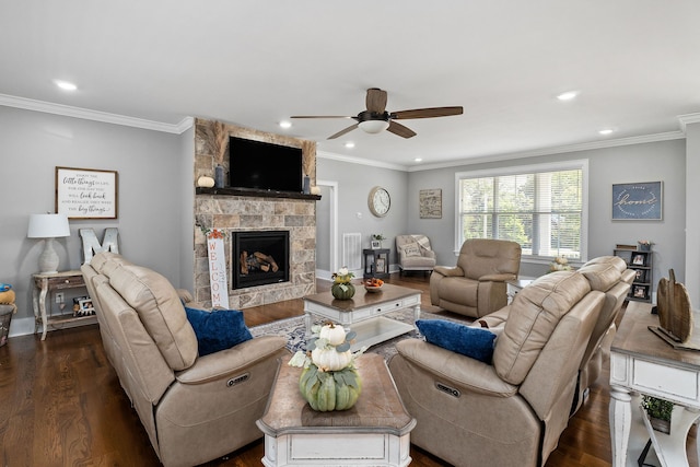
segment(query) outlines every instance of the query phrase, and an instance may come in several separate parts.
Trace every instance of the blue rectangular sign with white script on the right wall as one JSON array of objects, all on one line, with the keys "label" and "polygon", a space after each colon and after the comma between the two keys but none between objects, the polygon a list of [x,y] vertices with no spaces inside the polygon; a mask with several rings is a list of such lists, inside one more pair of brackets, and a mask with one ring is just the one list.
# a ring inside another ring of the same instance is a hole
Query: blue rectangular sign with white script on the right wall
[{"label": "blue rectangular sign with white script on the right wall", "polygon": [[661,221],[662,182],[612,185],[614,221]]}]

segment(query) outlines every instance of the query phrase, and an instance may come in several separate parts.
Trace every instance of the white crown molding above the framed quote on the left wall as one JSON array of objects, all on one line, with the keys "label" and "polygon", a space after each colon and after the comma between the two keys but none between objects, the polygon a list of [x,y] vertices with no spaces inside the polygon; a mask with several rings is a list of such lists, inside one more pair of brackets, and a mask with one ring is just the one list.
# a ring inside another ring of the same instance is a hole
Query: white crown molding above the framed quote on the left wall
[{"label": "white crown molding above the framed quote on the left wall", "polygon": [[43,112],[46,114],[62,115],[65,117],[82,118],[84,120],[102,121],[105,124],[121,125],[125,127],[142,128],[144,130],[162,131],[175,135],[183,133],[194,124],[194,119],[191,117],[185,117],[177,125],[172,125],[163,124],[161,121],[147,120],[143,118],[127,117],[124,115],[108,114],[106,112],[91,110],[88,108],[54,104],[50,102],[35,101],[32,98],[18,97],[7,94],[0,94],[0,105],[4,105],[7,107],[23,108],[25,110]]}]

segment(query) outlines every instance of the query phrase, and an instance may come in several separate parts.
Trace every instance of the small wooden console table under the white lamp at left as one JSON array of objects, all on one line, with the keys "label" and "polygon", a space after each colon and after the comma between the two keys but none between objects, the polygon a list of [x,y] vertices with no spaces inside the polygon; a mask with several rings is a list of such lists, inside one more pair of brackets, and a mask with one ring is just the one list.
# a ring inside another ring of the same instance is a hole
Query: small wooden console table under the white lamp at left
[{"label": "small wooden console table under the white lamp at left", "polygon": [[[75,288],[84,288],[85,282],[83,280],[83,275],[80,271],[61,271],[61,272],[49,272],[49,273],[38,273],[32,276],[32,282],[34,284],[32,290],[32,302],[34,305],[34,332],[37,331],[39,322],[42,323],[42,340],[46,339],[46,331],[48,330],[48,325],[65,325],[75,322],[85,322],[84,324],[96,323],[97,318],[92,316],[73,316],[71,315],[59,315],[59,316],[49,316],[46,315],[46,299],[50,297],[52,292],[65,290],[65,289],[75,289]],[[50,308],[50,304],[49,304]]]}]

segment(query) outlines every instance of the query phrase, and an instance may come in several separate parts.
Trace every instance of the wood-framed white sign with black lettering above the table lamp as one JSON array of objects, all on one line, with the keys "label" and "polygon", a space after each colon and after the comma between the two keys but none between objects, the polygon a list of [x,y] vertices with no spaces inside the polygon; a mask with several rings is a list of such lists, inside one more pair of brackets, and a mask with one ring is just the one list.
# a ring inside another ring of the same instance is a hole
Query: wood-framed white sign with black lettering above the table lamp
[{"label": "wood-framed white sign with black lettering above the table lamp", "polygon": [[117,172],[56,167],[56,212],[69,219],[117,219]]}]

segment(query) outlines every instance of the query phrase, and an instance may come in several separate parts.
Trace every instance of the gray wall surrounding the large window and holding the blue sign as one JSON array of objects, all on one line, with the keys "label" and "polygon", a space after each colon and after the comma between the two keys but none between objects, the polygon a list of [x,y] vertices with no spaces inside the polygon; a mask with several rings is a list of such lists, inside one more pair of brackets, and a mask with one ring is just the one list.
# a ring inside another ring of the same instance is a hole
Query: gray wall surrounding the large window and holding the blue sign
[{"label": "gray wall surrounding the large window and holding the blue sign", "polygon": [[[638,240],[654,242],[654,281],[668,277],[674,268],[676,279],[685,277],[685,215],[686,215],[686,142],[672,140],[579,151],[527,160],[460,165],[450,168],[411,172],[408,179],[407,230],[430,236],[439,264],[455,264],[455,173],[494,166],[527,165],[553,161],[587,159],[588,182],[588,258],[612,254],[618,243]],[[612,221],[611,185],[630,182],[664,183],[662,221]],[[420,219],[420,189],[442,188],[443,218]],[[457,246],[458,247],[458,246]],[[540,276],[548,266],[524,264],[523,276]]]}]

